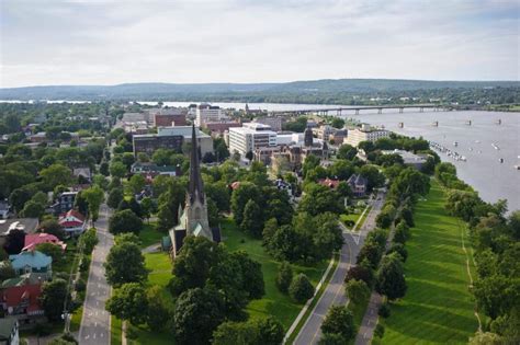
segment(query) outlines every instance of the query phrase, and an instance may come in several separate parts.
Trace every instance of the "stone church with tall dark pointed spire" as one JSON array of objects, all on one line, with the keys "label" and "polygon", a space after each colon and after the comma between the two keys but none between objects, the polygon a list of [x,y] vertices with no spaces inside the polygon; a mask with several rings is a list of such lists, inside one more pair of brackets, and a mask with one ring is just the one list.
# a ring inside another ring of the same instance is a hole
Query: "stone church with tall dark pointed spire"
[{"label": "stone church with tall dark pointed spire", "polygon": [[204,183],[201,175],[200,151],[195,126],[192,126],[190,152],[190,183],[188,185],[184,209],[179,205],[179,223],[169,231],[171,258],[176,258],[188,235],[205,237],[221,242],[221,229],[211,228],[207,220],[207,200],[204,194]]}]

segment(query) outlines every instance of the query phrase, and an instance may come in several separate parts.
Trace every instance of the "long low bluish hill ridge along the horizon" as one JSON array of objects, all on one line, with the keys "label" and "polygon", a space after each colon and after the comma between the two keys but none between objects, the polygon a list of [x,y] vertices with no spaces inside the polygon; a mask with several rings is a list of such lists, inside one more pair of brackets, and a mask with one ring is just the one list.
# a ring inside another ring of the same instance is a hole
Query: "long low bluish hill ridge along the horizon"
[{"label": "long low bluish hill ridge along the horizon", "polygon": [[[162,100],[267,101],[273,95],[370,95],[428,90],[520,88],[518,81],[427,81],[399,79],[324,79],[283,83],[125,83],[0,89],[0,100]],[[283,97],[282,97],[283,99]]]}]

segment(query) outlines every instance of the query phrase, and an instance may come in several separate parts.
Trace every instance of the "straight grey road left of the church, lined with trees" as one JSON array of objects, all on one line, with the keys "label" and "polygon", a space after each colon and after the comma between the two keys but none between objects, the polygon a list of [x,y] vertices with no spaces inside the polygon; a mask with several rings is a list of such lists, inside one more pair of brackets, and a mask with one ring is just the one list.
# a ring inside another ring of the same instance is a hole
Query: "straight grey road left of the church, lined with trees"
[{"label": "straight grey road left of the church, lined with trees", "polygon": [[103,263],[114,243],[108,231],[109,207],[102,205],[100,217],[95,222],[99,244],[92,253],[87,296],[83,304],[83,318],[79,329],[79,344],[109,345],[110,344],[110,313],[104,303],[110,297],[111,289],[104,277]]}]

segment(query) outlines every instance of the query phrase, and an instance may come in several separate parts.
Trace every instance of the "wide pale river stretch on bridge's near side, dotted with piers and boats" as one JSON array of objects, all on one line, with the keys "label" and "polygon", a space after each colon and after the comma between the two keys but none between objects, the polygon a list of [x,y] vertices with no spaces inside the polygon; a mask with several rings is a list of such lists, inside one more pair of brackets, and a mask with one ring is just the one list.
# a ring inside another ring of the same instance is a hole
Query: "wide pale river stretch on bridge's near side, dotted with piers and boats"
[{"label": "wide pale river stretch on bridge's near side, dotted with piers and boats", "polygon": [[[395,133],[439,142],[467,158],[443,161],[455,164],[459,177],[478,191],[486,202],[507,199],[509,210],[520,209],[520,113],[425,112],[361,114],[351,116],[372,125],[384,125]],[[497,122],[501,120],[501,125]],[[466,123],[471,120],[472,124]],[[439,126],[432,126],[439,122]],[[399,128],[399,123],[404,127]],[[457,147],[454,147],[454,142]],[[496,149],[495,147],[498,149]],[[500,163],[504,159],[504,163]]]}]

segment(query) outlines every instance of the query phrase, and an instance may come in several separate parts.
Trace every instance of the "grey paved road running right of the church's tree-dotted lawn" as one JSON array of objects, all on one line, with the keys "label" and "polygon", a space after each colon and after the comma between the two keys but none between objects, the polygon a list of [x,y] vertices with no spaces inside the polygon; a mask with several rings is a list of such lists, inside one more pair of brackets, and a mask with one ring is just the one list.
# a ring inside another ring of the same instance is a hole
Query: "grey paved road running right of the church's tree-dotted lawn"
[{"label": "grey paved road running right of the church's tree-dotted lawn", "polygon": [[330,283],[327,285],[324,295],[313,310],[313,313],[307,319],[306,323],[296,336],[294,344],[308,345],[317,344],[321,337],[321,323],[331,306],[342,304],[348,301],[344,294],[344,277],[351,265],[355,264],[358,253],[363,245],[364,238],[375,227],[375,217],[383,206],[383,195],[378,195],[373,202],[373,207],[366,216],[363,227],[359,232],[343,231],[344,244],[341,248],[340,261],[336,268]]}]

